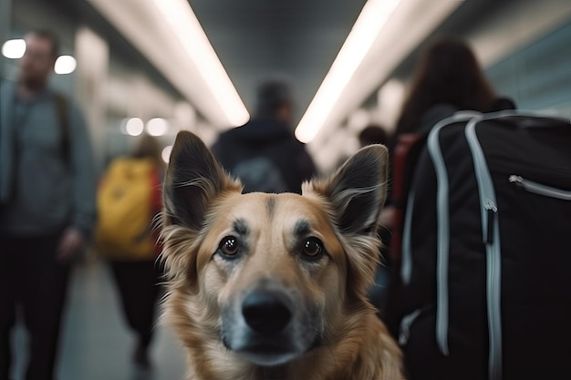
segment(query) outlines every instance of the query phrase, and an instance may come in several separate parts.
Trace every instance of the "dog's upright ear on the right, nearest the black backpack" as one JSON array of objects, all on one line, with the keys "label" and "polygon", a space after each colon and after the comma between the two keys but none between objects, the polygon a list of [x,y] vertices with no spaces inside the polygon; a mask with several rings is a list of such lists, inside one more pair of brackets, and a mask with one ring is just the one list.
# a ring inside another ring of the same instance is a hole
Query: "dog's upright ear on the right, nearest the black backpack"
[{"label": "dog's upright ear on the right, nearest the black backpack", "polygon": [[327,197],[344,234],[373,234],[387,197],[388,153],[382,145],[360,149],[329,180],[308,187]]}]

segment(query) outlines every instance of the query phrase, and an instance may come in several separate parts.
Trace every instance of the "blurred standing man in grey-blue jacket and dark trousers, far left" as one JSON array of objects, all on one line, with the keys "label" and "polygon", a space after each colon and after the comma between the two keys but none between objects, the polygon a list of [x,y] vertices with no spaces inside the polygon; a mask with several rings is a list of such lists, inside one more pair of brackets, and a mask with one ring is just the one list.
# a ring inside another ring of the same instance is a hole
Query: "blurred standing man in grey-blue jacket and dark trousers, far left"
[{"label": "blurred standing man in grey-blue jacket and dark trousers, far left", "polygon": [[70,263],[93,228],[96,185],[85,122],[47,86],[57,37],[34,31],[25,40],[17,82],[0,87],[0,379],[10,375],[10,332],[22,316],[26,380],[51,380]]}]

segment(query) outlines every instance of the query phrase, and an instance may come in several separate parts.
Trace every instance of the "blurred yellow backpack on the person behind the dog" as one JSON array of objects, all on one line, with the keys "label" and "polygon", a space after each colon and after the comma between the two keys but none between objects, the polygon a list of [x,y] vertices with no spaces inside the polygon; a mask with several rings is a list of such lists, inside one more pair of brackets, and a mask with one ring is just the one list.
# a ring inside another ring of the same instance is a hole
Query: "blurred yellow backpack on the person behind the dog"
[{"label": "blurred yellow backpack on the person behind the dog", "polygon": [[161,201],[156,164],[151,159],[115,159],[99,184],[99,254],[110,260],[152,260],[155,238],[152,218]]}]

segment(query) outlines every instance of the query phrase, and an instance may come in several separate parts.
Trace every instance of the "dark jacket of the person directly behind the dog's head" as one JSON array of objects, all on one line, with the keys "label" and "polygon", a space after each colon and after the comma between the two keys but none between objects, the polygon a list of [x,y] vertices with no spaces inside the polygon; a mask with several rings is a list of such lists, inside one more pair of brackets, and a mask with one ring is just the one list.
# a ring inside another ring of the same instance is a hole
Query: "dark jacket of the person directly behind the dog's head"
[{"label": "dark jacket of the person directly behind the dog's head", "polygon": [[291,130],[274,119],[254,119],[223,132],[213,154],[244,183],[244,191],[301,192],[316,167]]}]

